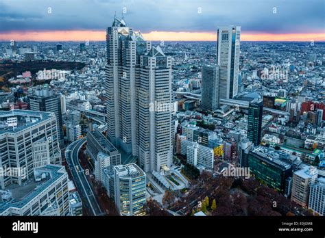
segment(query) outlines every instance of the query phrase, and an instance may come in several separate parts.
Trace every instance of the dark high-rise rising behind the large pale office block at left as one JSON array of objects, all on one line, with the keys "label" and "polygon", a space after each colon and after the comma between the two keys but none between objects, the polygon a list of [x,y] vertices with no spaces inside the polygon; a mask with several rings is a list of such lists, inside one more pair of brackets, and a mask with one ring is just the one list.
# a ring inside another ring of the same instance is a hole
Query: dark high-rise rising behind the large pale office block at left
[{"label": "dark high-rise rising behind the large pale office block at left", "polygon": [[49,88],[38,88],[29,96],[30,109],[32,111],[48,111],[56,114],[58,136],[63,142],[61,96]]}]

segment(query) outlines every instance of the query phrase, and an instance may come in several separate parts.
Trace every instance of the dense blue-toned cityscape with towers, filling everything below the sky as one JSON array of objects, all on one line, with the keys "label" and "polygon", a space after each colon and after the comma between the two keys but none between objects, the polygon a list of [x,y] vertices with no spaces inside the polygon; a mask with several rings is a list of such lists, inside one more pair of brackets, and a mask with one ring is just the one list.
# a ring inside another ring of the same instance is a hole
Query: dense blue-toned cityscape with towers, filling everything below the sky
[{"label": "dense blue-toned cityscape with towers, filling everything below the sky", "polygon": [[0,42],[0,215],[325,215],[325,42]]}]

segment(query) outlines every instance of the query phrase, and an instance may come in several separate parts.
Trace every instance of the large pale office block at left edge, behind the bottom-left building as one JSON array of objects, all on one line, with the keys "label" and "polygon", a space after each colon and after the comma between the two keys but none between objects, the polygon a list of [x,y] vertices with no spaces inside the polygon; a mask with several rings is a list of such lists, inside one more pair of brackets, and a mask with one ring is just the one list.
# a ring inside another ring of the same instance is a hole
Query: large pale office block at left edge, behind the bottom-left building
[{"label": "large pale office block at left edge, behind the bottom-left building", "polygon": [[32,178],[34,168],[48,161],[61,165],[55,114],[0,111],[0,164],[2,168],[16,170],[10,176],[0,177],[1,189],[12,184],[22,185]]}]

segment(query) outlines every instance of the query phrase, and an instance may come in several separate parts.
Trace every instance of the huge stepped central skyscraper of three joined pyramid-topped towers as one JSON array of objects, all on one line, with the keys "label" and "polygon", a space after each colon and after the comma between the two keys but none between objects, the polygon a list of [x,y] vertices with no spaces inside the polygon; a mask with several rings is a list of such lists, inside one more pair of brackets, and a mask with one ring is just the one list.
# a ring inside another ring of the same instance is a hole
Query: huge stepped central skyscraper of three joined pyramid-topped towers
[{"label": "huge stepped central skyscraper of three joined pyramid-topped towers", "polygon": [[116,17],[106,44],[110,142],[139,157],[145,172],[171,166],[171,57]]}]

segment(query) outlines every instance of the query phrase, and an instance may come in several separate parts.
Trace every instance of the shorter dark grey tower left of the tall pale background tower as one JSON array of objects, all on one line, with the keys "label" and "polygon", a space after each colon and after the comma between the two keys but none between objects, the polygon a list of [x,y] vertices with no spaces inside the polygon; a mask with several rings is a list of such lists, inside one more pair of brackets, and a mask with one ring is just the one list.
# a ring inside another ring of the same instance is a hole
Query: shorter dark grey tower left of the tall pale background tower
[{"label": "shorter dark grey tower left of the tall pale background tower", "polygon": [[202,108],[215,111],[219,107],[219,66],[202,67]]}]

